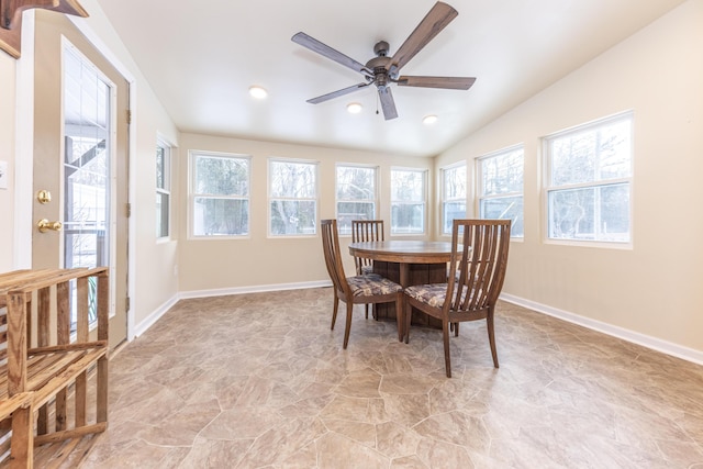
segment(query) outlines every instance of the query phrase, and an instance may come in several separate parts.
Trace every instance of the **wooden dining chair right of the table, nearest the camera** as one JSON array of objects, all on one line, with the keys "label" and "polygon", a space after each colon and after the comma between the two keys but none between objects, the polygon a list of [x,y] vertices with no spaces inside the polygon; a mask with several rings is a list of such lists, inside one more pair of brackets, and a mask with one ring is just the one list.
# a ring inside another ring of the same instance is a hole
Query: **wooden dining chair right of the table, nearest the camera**
[{"label": "wooden dining chair right of the table, nearest the camera", "polygon": [[458,336],[465,321],[486,320],[493,366],[499,367],[493,315],[507,267],[510,226],[510,220],[455,220],[447,282],[405,288],[405,343],[412,308],[440,320],[447,378],[451,378],[449,326]]}]

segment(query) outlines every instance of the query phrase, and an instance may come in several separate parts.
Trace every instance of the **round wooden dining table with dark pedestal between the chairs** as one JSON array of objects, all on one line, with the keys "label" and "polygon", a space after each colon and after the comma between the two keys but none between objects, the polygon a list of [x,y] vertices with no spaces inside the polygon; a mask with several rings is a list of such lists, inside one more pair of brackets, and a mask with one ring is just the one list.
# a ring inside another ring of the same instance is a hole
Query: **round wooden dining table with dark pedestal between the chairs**
[{"label": "round wooden dining table with dark pedestal between the chairs", "polygon": [[[451,243],[436,241],[371,241],[349,244],[349,254],[373,260],[373,271],[403,287],[447,281],[447,263],[451,260]],[[375,308],[377,319],[395,319],[395,306],[391,303]],[[433,324],[420,311],[413,312],[412,322],[417,325]],[[439,323],[439,326],[442,324]]]}]

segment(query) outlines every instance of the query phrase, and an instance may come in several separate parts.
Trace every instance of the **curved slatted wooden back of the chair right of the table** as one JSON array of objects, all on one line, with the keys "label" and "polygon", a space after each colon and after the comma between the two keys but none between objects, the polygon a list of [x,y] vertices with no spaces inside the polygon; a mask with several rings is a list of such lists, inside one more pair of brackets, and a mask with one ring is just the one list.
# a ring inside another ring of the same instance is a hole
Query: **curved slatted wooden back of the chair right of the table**
[{"label": "curved slatted wooden back of the chair right of the table", "polygon": [[451,301],[446,302],[447,309],[481,311],[495,305],[507,267],[510,223],[510,220],[454,221],[447,286],[447,298]]}]

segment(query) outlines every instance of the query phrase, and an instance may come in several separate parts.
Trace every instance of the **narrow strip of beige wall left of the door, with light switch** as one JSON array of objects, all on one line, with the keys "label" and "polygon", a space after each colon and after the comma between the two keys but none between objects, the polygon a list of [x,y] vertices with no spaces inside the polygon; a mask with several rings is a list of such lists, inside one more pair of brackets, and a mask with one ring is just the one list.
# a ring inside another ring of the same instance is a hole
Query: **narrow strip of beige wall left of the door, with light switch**
[{"label": "narrow strip of beige wall left of the door, with light switch", "polygon": [[0,272],[12,269],[14,244],[15,62],[0,53],[0,161],[8,161],[8,189],[0,189]]}]

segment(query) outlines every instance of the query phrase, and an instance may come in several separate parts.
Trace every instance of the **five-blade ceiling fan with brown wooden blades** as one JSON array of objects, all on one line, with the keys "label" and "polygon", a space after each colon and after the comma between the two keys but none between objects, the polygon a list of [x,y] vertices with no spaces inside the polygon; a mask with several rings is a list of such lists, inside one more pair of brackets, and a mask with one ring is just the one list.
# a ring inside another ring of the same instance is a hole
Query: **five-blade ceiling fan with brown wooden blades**
[{"label": "five-blade ceiling fan with brown wooden blades", "polygon": [[398,118],[395,102],[391,93],[390,85],[397,83],[401,87],[423,87],[423,88],[445,88],[454,90],[468,90],[476,78],[472,77],[420,77],[399,75],[400,69],[410,62],[429,41],[432,41],[451,20],[459,13],[447,3],[438,1],[420,22],[417,27],[408,36],[405,42],[392,57],[388,56],[388,43],[380,41],[373,46],[376,57],[366,65],[342,54],[338,51],[321,43],[305,33],[298,33],[291,40],[294,43],[308,47],[337,64],[344,65],[364,75],[366,81],[333,91],[316,98],[309,99],[308,102],[319,104],[321,102],[348,94],[369,85],[376,85],[378,89],[381,109],[386,120]]}]

